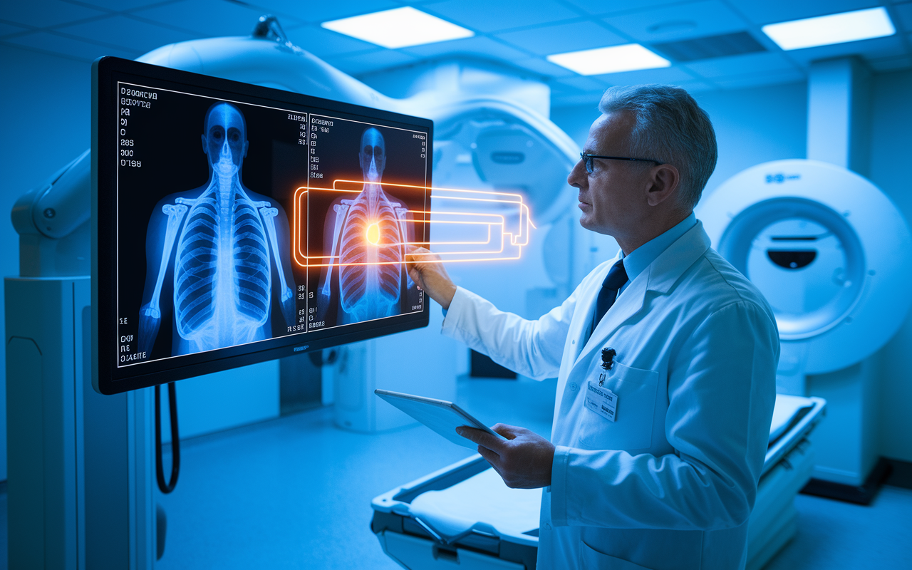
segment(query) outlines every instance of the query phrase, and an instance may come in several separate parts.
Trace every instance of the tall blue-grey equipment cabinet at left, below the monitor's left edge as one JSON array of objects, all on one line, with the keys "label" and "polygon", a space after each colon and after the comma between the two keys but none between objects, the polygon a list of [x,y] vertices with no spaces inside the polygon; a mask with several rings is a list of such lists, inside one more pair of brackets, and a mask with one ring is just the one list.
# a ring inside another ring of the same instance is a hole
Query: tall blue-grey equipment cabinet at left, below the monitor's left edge
[{"label": "tall blue-grey equipment cabinet at left, below the monitor's left edge", "polygon": [[11,568],[156,559],[152,389],[92,389],[90,297],[88,276],[5,278]]}]

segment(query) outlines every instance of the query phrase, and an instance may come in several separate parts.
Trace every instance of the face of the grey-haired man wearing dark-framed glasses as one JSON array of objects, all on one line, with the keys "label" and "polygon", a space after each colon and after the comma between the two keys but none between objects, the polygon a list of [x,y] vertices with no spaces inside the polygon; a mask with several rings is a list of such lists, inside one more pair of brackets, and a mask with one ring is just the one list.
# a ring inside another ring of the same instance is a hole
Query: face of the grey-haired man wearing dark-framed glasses
[{"label": "face of the grey-haired man wearing dark-framed glasses", "polygon": [[[602,115],[589,128],[583,151],[603,156],[630,156],[630,132],[635,119],[630,113]],[[648,215],[648,166],[652,162],[593,159],[592,173],[586,161],[576,163],[567,183],[579,189],[579,223],[587,230],[623,239]]]}]

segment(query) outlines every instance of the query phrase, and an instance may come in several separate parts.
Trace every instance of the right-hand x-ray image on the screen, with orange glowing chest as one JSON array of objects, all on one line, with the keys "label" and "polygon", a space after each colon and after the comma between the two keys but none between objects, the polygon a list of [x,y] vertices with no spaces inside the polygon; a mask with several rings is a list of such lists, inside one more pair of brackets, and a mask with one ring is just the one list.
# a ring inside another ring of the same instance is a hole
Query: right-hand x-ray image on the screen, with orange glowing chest
[{"label": "right-hand x-ray image on the screen, with orange glowing chest", "polygon": [[[316,284],[316,322],[323,326],[400,315],[420,310],[422,302],[422,295],[403,262],[409,244],[416,243],[423,235],[423,228],[416,231],[416,218],[423,219],[420,212],[424,209],[424,190],[402,184],[422,182],[416,180],[416,174],[421,175],[424,170],[421,141],[412,139],[408,131],[341,121],[334,121],[332,131],[327,134],[341,133],[343,129],[350,141],[347,149],[333,145],[338,155],[336,164],[345,160],[352,173],[358,168],[358,174],[349,175],[346,187],[359,181],[359,188],[337,193],[332,202],[323,206],[326,213],[321,221],[322,253],[327,263]],[[396,144],[388,144],[389,137]],[[357,147],[352,144],[356,140]],[[324,140],[318,141],[317,152],[323,144]],[[342,154],[343,150],[347,152]],[[384,173],[390,162],[397,159],[399,171],[394,174],[394,183],[385,185]],[[329,164],[321,164],[321,168],[327,174],[332,169]],[[344,177],[337,173],[331,180]]]}]

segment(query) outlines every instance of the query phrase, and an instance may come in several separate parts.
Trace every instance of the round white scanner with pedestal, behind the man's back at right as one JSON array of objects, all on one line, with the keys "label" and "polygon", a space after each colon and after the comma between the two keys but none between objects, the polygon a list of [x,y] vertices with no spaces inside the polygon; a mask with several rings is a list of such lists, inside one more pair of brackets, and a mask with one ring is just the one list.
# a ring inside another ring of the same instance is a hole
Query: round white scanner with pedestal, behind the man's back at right
[{"label": "round white scanner with pedestal, behind the man's back at right", "polygon": [[906,220],[871,181],[808,160],[742,171],[698,215],[713,247],[772,306],[782,341],[777,390],[827,400],[814,477],[862,485],[876,461],[870,357],[912,303]]}]

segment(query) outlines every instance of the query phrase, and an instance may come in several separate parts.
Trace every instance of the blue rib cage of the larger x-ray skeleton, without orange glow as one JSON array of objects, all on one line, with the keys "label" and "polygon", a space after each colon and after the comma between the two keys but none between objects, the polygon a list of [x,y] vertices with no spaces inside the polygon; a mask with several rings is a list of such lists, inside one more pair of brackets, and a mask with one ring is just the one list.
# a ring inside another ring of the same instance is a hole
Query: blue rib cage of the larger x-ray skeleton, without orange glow
[{"label": "blue rib cage of the larger x-ray skeleton, without orange glow", "polygon": [[236,182],[223,183],[226,192],[217,192],[213,181],[193,204],[175,260],[175,324],[201,349],[249,342],[269,317],[272,275],[263,222]]}]

